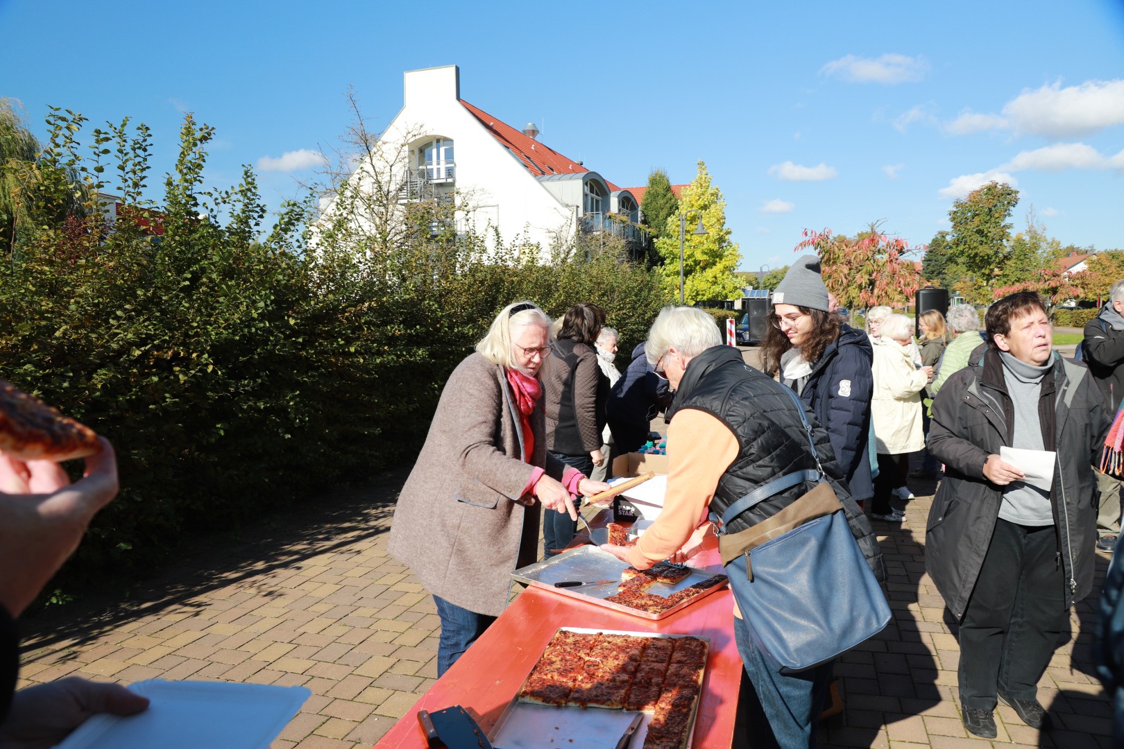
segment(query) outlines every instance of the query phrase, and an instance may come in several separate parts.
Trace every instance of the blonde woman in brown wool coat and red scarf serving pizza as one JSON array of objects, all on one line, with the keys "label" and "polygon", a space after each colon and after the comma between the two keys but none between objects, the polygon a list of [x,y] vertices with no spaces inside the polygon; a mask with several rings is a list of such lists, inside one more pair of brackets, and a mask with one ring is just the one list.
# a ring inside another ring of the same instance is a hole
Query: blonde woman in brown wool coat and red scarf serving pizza
[{"label": "blonde woman in brown wool coat and red scarf serving pizza", "polygon": [[398,497],[388,550],[437,604],[438,676],[507,608],[511,570],[535,560],[540,505],[577,520],[571,495],[608,488],[546,453],[536,377],[550,326],[531,302],[499,313],[445,384]]}]

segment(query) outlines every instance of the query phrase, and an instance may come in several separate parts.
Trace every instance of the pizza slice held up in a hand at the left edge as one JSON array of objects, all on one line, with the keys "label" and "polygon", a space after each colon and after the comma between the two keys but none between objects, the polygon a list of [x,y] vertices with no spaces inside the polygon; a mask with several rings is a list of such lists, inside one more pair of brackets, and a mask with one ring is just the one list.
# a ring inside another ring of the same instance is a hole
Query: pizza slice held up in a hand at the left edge
[{"label": "pizza slice held up in a hand at the left edge", "polygon": [[71,460],[101,449],[98,435],[0,380],[0,451],[17,460]]}]

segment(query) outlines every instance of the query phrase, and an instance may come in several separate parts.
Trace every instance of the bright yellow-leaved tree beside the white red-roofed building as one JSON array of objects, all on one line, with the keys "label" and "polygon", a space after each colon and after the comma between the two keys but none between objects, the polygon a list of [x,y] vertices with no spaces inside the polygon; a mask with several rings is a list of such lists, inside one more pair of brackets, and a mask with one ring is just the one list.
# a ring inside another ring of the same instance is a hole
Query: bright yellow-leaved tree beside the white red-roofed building
[{"label": "bright yellow-leaved tree beside the white red-roofed building", "polygon": [[[647,195],[645,195],[646,200]],[[687,217],[683,232],[683,290],[688,304],[711,300],[729,299],[741,287],[734,271],[742,256],[737,245],[729,240],[731,229],[726,227],[726,200],[722,191],[713,184],[706,164],[698,162],[695,180],[683,188],[680,210]],[[694,234],[701,217],[705,235]],[[660,268],[664,286],[679,291],[679,214],[664,220],[663,231],[655,240],[655,247],[663,261]]]}]

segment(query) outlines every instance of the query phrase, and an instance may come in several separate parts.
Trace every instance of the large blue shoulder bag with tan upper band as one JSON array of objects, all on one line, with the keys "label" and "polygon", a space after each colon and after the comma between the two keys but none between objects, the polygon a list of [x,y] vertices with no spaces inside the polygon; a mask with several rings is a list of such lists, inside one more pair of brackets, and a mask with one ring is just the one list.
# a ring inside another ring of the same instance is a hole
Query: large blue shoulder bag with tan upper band
[{"label": "large blue shoulder bag with tan upper band", "polygon": [[754,646],[781,673],[814,668],[882,631],[890,606],[855,541],[831,484],[824,481],[812,426],[804,421],[815,469],[758,487],[722,514],[723,527],[759,502],[804,482],[815,488],[772,515],[718,539],[737,608]]}]

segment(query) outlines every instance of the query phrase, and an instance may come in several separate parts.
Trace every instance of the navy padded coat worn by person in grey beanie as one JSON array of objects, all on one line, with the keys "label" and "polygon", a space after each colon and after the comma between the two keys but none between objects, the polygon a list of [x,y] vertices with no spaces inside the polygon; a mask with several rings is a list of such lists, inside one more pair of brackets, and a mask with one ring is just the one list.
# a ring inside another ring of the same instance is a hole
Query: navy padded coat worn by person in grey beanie
[{"label": "navy padded coat worn by person in grey beanie", "polygon": [[[816,362],[800,392],[832,440],[851,496],[874,495],[870,477],[870,401],[874,391],[873,348],[861,330],[844,325]],[[786,383],[788,384],[788,383]]]}]

